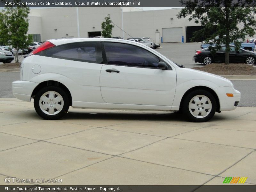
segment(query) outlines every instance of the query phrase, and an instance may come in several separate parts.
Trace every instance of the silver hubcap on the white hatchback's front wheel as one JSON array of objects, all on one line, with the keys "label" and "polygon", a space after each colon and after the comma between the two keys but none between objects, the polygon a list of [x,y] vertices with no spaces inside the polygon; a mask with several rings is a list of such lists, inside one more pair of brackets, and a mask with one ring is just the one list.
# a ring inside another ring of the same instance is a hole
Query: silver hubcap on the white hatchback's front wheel
[{"label": "silver hubcap on the white hatchback's front wheel", "polygon": [[212,102],[205,95],[196,95],[189,101],[189,112],[196,118],[208,116],[212,110]]}]

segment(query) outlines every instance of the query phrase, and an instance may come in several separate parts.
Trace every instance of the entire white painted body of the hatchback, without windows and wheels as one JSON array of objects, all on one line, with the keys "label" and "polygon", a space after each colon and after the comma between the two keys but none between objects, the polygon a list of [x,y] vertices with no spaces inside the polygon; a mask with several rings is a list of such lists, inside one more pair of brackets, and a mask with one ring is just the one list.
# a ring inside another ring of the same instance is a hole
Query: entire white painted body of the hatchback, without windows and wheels
[{"label": "entire white painted body of the hatchback, without windows and wheels", "polygon": [[[197,86],[208,87],[216,93],[220,100],[220,111],[234,110],[236,108],[234,102],[240,101],[241,93],[234,89],[228,79],[180,68],[159,52],[138,42],[113,38],[48,41],[56,46],[83,41],[136,45],[160,57],[171,66],[172,70],[97,64],[31,55],[22,61],[21,81],[12,84],[13,94],[20,100],[30,101],[36,86],[51,80],[67,87],[74,108],[177,111],[183,95]],[[35,65],[41,67],[38,74],[32,72]],[[116,69],[120,73],[108,73],[106,69]],[[234,97],[228,97],[226,93],[233,93]]]}]

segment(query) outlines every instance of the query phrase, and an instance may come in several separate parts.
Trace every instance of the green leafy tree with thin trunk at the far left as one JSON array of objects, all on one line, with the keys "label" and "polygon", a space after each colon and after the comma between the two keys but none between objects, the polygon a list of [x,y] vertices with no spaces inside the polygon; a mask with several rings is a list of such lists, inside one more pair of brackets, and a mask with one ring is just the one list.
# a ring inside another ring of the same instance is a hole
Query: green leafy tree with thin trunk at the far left
[{"label": "green leafy tree with thin trunk at the far left", "polygon": [[0,12],[0,37],[2,44],[15,48],[15,62],[19,62],[19,49],[25,49],[32,42],[28,33],[29,7],[5,7]]}]

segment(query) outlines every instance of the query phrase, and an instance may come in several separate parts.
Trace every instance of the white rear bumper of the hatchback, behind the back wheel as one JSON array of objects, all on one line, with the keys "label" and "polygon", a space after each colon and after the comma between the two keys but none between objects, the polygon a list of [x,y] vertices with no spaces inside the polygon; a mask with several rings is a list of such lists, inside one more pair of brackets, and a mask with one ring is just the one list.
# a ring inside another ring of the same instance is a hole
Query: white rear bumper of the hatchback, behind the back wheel
[{"label": "white rear bumper of the hatchback, behind the back wheel", "polygon": [[17,99],[30,102],[32,92],[37,85],[38,83],[30,81],[14,81],[12,82],[12,93]]}]

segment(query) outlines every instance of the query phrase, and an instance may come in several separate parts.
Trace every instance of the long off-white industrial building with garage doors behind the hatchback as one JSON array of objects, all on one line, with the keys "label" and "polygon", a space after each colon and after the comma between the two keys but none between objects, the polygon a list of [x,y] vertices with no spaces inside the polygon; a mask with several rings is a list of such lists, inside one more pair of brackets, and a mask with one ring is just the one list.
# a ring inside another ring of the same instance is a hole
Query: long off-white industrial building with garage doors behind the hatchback
[{"label": "long off-white industrial building with garage doors behind the hatchback", "polygon": [[[53,38],[73,38],[100,36],[101,23],[110,14],[115,26],[113,36],[151,37],[154,42],[189,41],[192,32],[201,28],[200,24],[178,19],[180,8],[169,10],[142,11],[137,8],[124,8],[123,22],[120,7],[61,7],[31,9],[28,34],[33,34],[34,41]],[[129,34],[129,35],[128,35]]]}]

